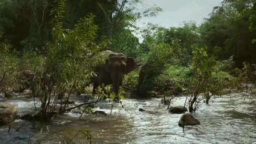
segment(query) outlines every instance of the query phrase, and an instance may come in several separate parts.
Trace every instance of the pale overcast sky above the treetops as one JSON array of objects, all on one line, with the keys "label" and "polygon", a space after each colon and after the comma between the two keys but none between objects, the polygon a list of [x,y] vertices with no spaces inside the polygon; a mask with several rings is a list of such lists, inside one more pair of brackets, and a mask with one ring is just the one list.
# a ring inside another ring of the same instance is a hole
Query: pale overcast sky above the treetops
[{"label": "pale overcast sky above the treetops", "polygon": [[[157,5],[163,9],[156,17],[143,18],[137,26],[145,27],[148,22],[162,27],[181,27],[184,21],[195,21],[197,24],[208,17],[213,7],[221,5],[222,0],[144,0],[147,5]],[[141,5],[138,5],[141,8]]]}]

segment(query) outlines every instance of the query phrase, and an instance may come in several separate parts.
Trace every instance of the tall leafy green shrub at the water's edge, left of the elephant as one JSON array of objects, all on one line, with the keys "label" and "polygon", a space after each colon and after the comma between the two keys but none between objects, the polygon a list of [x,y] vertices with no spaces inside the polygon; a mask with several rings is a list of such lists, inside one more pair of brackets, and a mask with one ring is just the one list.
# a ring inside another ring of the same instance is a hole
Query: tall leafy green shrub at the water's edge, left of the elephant
[{"label": "tall leafy green shrub at the water's edge, left of the elephant", "polygon": [[[67,101],[74,88],[88,85],[96,76],[94,67],[102,59],[91,57],[106,45],[104,41],[96,43],[98,27],[93,24],[93,15],[81,18],[74,30],[64,29],[64,10],[64,0],[59,0],[57,7],[52,8],[53,41],[46,43],[46,53],[40,60],[41,64],[35,66],[33,90],[40,98],[46,120],[56,107],[55,99],[59,93],[67,93]],[[50,105],[51,100],[53,104]],[[64,110],[65,105],[61,108]]]}]

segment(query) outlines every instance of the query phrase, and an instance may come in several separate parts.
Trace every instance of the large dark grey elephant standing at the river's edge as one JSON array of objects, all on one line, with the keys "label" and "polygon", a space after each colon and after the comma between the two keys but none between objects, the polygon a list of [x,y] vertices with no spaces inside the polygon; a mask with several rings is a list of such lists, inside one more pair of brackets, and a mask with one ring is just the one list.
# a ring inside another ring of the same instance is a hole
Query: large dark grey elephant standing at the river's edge
[{"label": "large dark grey elephant standing at the river's edge", "polygon": [[[117,96],[119,87],[122,85],[123,76],[133,71],[140,64],[136,64],[135,60],[131,57],[125,56],[123,53],[114,53],[112,51],[101,51],[101,55],[107,57],[104,64],[100,64],[96,67],[97,77],[93,80],[93,91],[95,94],[95,89],[104,85],[112,84],[113,92]],[[119,100],[119,97],[116,97]]]}]

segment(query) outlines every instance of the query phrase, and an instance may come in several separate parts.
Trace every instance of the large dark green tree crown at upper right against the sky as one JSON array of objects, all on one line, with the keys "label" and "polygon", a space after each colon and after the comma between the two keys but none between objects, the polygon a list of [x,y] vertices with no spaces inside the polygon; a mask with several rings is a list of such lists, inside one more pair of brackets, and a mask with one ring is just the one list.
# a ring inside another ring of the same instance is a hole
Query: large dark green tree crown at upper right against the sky
[{"label": "large dark green tree crown at upper right against the sky", "polygon": [[199,29],[200,39],[209,50],[221,47],[220,59],[234,55],[235,66],[239,68],[243,67],[243,61],[256,62],[255,44],[251,43],[256,35],[254,3],[255,0],[223,0]]}]

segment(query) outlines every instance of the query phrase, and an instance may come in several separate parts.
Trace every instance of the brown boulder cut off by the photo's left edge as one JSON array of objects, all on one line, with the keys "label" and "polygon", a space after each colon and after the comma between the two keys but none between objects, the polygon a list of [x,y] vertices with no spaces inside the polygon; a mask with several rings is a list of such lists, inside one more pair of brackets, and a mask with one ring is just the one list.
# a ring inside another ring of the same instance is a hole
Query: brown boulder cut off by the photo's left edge
[{"label": "brown boulder cut off by the photo's left edge", "polygon": [[17,109],[12,104],[0,102],[0,125],[6,125],[12,123],[15,118]]}]

